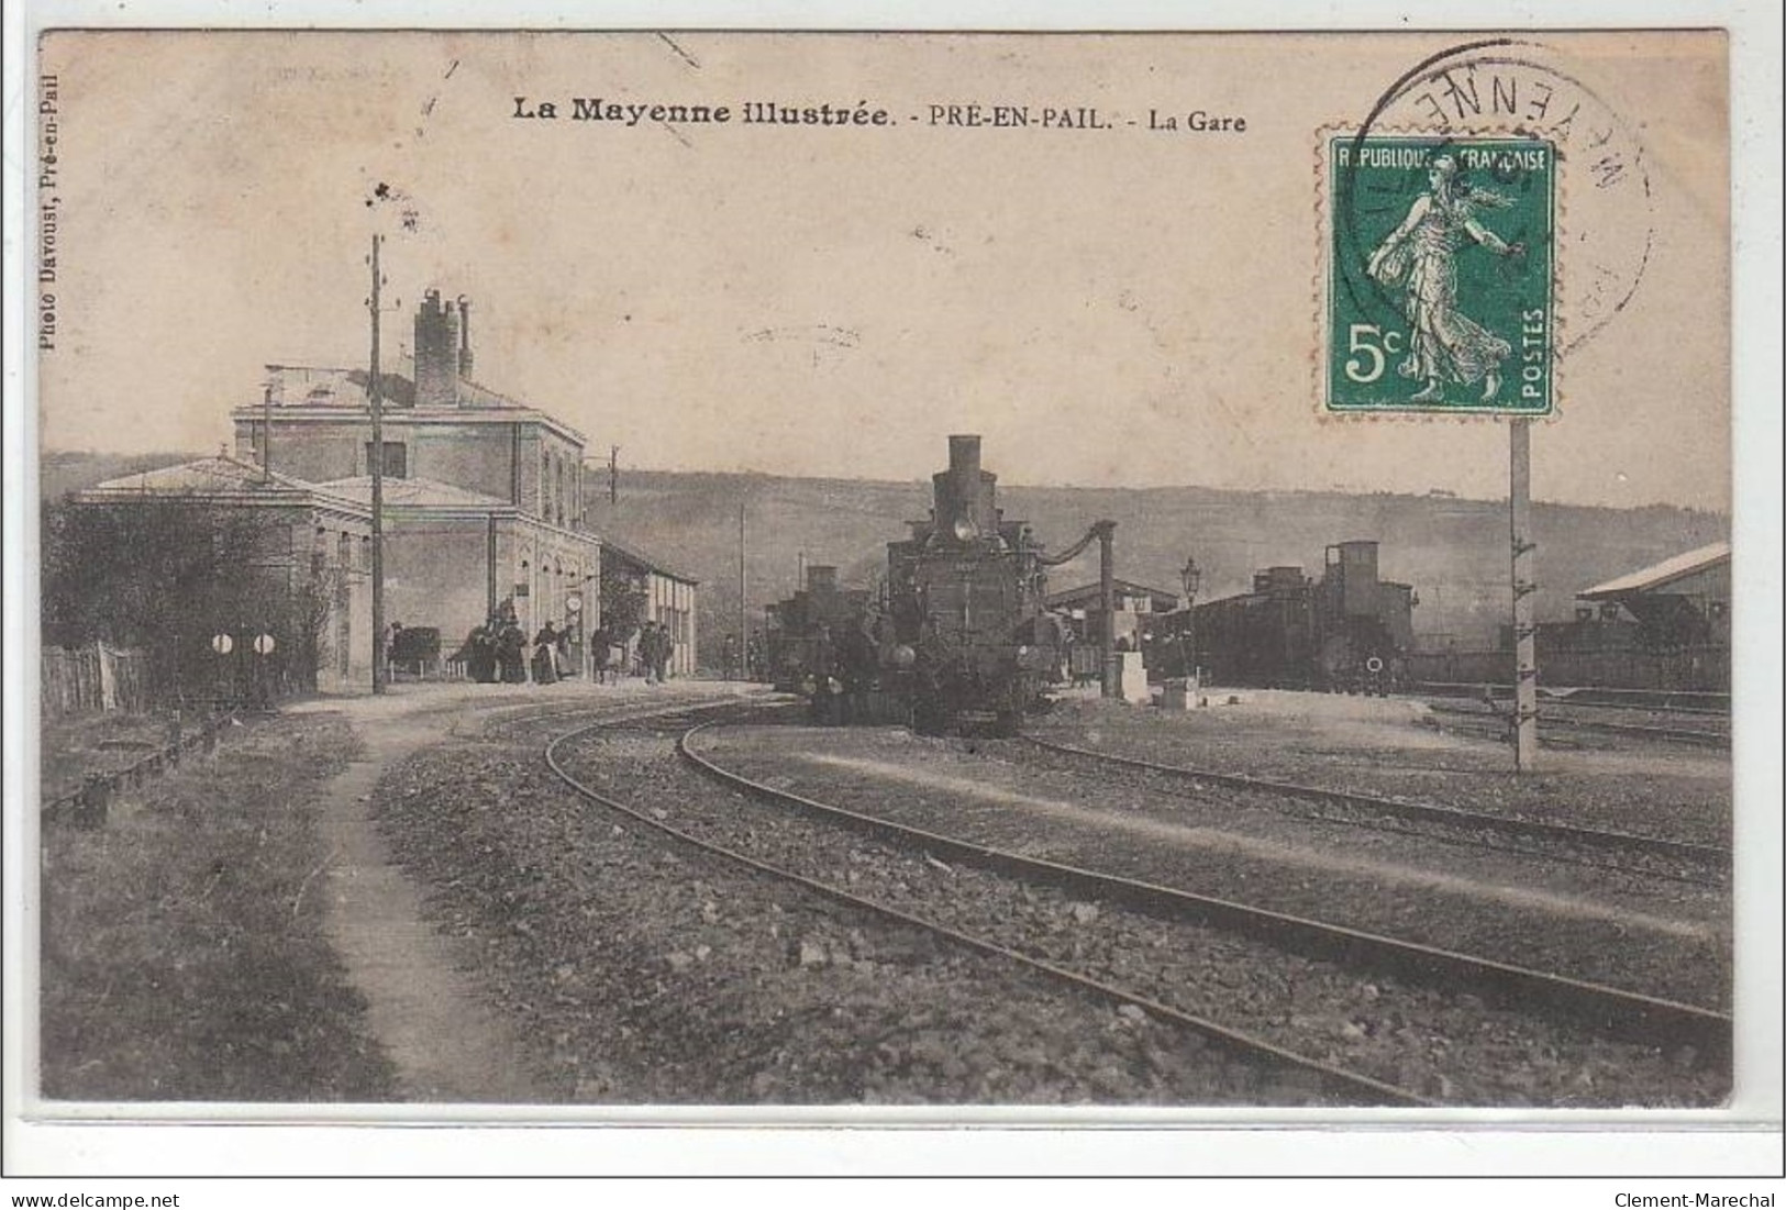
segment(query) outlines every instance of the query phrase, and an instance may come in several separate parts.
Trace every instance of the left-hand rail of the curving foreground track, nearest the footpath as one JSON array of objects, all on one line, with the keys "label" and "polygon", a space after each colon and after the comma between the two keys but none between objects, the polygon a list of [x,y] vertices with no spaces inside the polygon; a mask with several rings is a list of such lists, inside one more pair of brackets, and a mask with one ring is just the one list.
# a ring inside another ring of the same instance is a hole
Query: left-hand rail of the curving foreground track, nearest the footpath
[{"label": "left-hand rail of the curving foreground track, nearest the footpath", "polygon": [[[673,710],[670,710],[670,712],[673,712]],[[1406,1105],[1406,1106],[1436,1106],[1438,1105],[1438,1101],[1432,1101],[1431,1098],[1425,1098],[1425,1096],[1422,1096],[1418,1092],[1411,1092],[1409,1089],[1402,1089],[1402,1087],[1397,1087],[1393,1083],[1384,1083],[1381,1080],[1373,1080],[1373,1078],[1359,1074],[1356,1071],[1347,1071],[1343,1067],[1334,1067],[1332,1064],[1323,1064],[1323,1062],[1309,1058],[1306,1055],[1298,1055],[1295,1051],[1289,1051],[1289,1049],[1284,1049],[1281,1046],[1275,1046],[1273,1042],[1268,1042],[1264,1039],[1254,1037],[1250,1033],[1243,1033],[1239,1030],[1231,1030],[1231,1028],[1216,1024],[1213,1021],[1206,1021],[1204,1017],[1197,1017],[1197,1015],[1191,1015],[1188,1012],[1181,1012],[1181,1010],[1177,1010],[1177,1008],[1173,1008],[1170,1005],[1159,1003],[1157,999],[1148,999],[1145,996],[1136,996],[1136,994],[1127,992],[1127,990],[1123,990],[1120,987],[1114,987],[1113,983],[1106,983],[1102,980],[1088,978],[1084,974],[1077,974],[1077,973],[1068,971],[1066,967],[1056,966],[1052,962],[1043,962],[1039,958],[1032,958],[1029,955],[1018,953],[1016,949],[1007,949],[1004,946],[998,946],[997,942],[984,941],[984,939],[973,937],[970,933],[963,933],[963,932],[959,932],[956,928],[950,928],[948,924],[939,924],[936,921],[923,919],[922,916],[913,916],[909,912],[902,912],[902,910],[888,907],[884,903],[877,903],[875,899],[864,899],[864,898],[861,898],[857,894],[852,894],[850,891],[845,891],[841,887],[834,887],[830,883],[818,882],[816,878],[807,878],[805,874],[798,874],[795,871],[782,869],[779,866],[773,866],[770,862],[763,862],[763,860],[759,860],[755,857],[750,857],[747,853],[739,853],[738,849],[725,848],[723,844],[713,844],[709,841],[702,841],[700,837],[697,837],[697,835],[693,835],[689,832],[684,832],[680,828],[675,828],[675,826],[672,826],[672,825],[668,825],[668,823],[664,823],[661,819],[655,819],[655,817],[652,817],[647,812],[634,810],[632,807],[627,807],[625,803],[622,803],[622,801],[618,801],[614,798],[609,798],[607,794],[602,794],[600,791],[589,789],[588,785],[584,785],[582,782],[579,782],[564,767],[564,764],[559,760],[559,750],[566,742],[570,742],[573,739],[579,739],[582,735],[588,735],[589,732],[597,732],[597,730],[602,730],[605,726],[613,726],[613,723],[614,721],[591,723],[589,726],[580,726],[577,730],[572,730],[572,732],[566,732],[566,733],[555,737],[545,748],[545,760],[547,760],[547,767],[550,767],[552,773],[557,775],[559,780],[563,780],[572,791],[575,791],[577,794],[580,794],[582,798],[586,798],[586,800],[589,800],[593,803],[598,803],[598,805],[602,805],[602,807],[605,807],[609,810],[616,810],[616,812],[627,816],[636,825],[643,825],[643,826],[654,828],[654,830],[657,830],[657,832],[661,832],[661,833],[664,833],[664,835],[668,835],[668,837],[672,837],[672,839],[675,839],[675,841],[679,841],[682,844],[688,844],[688,846],[691,846],[691,848],[695,848],[695,849],[698,849],[702,853],[711,853],[714,857],[722,857],[722,858],[725,858],[729,862],[734,862],[738,866],[743,866],[743,867],[747,867],[747,869],[750,869],[754,873],[775,878],[779,882],[793,883],[797,887],[802,887],[804,891],[809,891],[813,894],[823,896],[823,898],[832,899],[836,903],[843,903],[847,907],[852,907],[852,908],[857,908],[857,910],[863,910],[863,912],[870,912],[873,916],[880,916],[882,919],[895,921],[895,923],[904,924],[907,928],[916,928],[916,930],[925,932],[925,933],[945,937],[945,939],[948,939],[948,941],[952,941],[952,942],[956,942],[959,946],[964,946],[968,949],[973,949],[977,953],[986,953],[986,955],[993,955],[993,957],[998,957],[998,958],[1004,958],[1004,960],[1009,960],[1009,962],[1016,962],[1016,964],[1020,964],[1020,966],[1023,966],[1023,967],[1027,967],[1031,971],[1038,971],[1041,974],[1047,974],[1048,978],[1054,978],[1057,982],[1068,983],[1068,985],[1072,985],[1077,990],[1091,992],[1095,996],[1100,996],[1100,998],[1109,999],[1109,1001],[1116,1001],[1120,1005],[1134,1005],[1134,1007],[1141,1008],[1143,1012],[1147,1012],[1147,1014],[1150,1014],[1154,1017],[1159,1017],[1161,1021],[1168,1021],[1168,1023],[1173,1023],[1177,1026],[1188,1028],[1188,1030],[1191,1030],[1195,1033],[1200,1033],[1200,1035],[1204,1035],[1204,1037],[1207,1037],[1207,1039],[1211,1039],[1211,1040],[1214,1040],[1214,1042],[1218,1042],[1222,1046],[1227,1046],[1227,1048],[1231,1048],[1231,1049],[1234,1049],[1238,1053],[1261,1055],[1261,1057],[1268,1058],[1270,1062],[1275,1062],[1275,1064],[1279,1064],[1282,1067],[1289,1067],[1289,1069],[1297,1069],[1297,1071],[1313,1074],[1314,1078],[1318,1078],[1322,1082],[1323,1087],[1327,1087],[1327,1089],[1331,1089],[1334,1092],[1345,1094],[1354,1103],[1361,1101],[1361,1103],[1368,1103],[1368,1105]],[[677,753],[682,758],[693,760],[697,764],[700,762],[700,758],[695,757],[689,751],[689,748],[688,748],[688,737],[693,735],[695,732],[705,728],[705,726],[711,726],[711,723],[700,723],[700,725],[689,728],[688,732],[684,732],[677,739]]]}]

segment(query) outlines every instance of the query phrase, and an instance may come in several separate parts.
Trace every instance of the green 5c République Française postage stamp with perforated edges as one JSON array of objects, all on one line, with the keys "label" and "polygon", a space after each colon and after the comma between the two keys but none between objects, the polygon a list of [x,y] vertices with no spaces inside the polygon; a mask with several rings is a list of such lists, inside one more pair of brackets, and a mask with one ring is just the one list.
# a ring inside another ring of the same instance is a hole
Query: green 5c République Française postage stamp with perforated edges
[{"label": "green 5c R\u00e9publique Fran\u00e7aise postage stamp with perforated edges", "polygon": [[1345,134],[1323,153],[1325,410],[1548,416],[1556,148]]}]

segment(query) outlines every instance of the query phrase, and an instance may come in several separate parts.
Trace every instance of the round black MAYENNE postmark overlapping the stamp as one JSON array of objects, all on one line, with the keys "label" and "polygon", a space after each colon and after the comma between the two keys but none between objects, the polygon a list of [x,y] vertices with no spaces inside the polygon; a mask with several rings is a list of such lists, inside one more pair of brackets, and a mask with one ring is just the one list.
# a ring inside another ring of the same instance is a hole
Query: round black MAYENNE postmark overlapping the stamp
[{"label": "round black MAYENNE postmark overlapping the stamp", "polygon": [[[1406,71],[1375,102],[1357,134],[1357,148],[1390,132],[1429,139],[1431,155],[1407,171],[1425,175],[1440,155],[1459,159],[1473,143],[1522,139],[1548,143],[1554,152],[1554,227],[1538,223],[1500,232],[1515,252],[1532,255],[1548,239],[1547,266],[1556,298],[1557,359],[1575,352],[1636,296],[1656,246],[1654,202],[1638,130],[1563,62],[1552,48],[1515,37],[1493,37],[1443,50]],[[1336,164],[1334,289],[1390,287],[1370,273],[1381,234],[1368,216],[1370,189],[1357,187],[1359,157]],[[1518,155],[1479,157],[1481,195],[1495,205],[1534,187],[1534,173]],[[1379,261],[1381,266],[1381,261]],[[1400,305],[1400,303],[1398,303]]]}]

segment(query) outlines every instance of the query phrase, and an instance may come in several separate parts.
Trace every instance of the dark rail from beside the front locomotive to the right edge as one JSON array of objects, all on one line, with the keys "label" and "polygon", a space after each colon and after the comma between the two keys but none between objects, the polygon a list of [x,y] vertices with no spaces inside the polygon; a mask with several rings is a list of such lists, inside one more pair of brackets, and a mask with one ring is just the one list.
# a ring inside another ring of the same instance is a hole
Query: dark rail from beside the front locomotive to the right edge
[{"label": "dark rail from beside the front locomotive to the right edge", "polygon": [[1693,862],[1704,862],[1709,866],[1729,866],[1729,862],[1732,860],[1731,849],[1718,844],[1670,841],[1666,837],[1650,837],[1636,832],[1577,828],[1575,825],[1547,823],[1543,819],[1509,819],[1506,816],[1490,816],[1479,810],[1465,810],[1463,807],[1440,807],[1438,803],[1406,803],[1395,798],[1379,798],[1375,794],[1357,794],[1352,791],[1331,791],[1318,785],[1298,785],[1295,782],[1277,782],[1273,778],[1254,778],[1254,776],[1245,776],[1241,773],[1214,773],[1209,769],[1193,769],[1177,764],[1157,764],[1154,760],[1141,760],[1138,757],[1120,757],[1116,753],[1093,751],[1089,748],[1075,748],[1073,744],[1056,744],[1054,741],[1036,739],[1034,735],[1023,735],[1023,741],[1038,748],[1043,748],[1045,751],[1054,751],[1059,755],[1104,760],[1109,764],[1143,769],[1147,773],[1161,773],[1166,776],[1184,778],[1189,782],[1213,782],[1214,785],[1231,785],[1245,791],[1264,791],[1268,794],[1304,798],[1316,803],[1332,803],[1336,807],[1350,807],[1352,810],[1368,810],[1381,816],[1393,816],[1397,819],[1416,819],[1422,823],[1445,823],[1450,826],[1486,828],[1504,833],[1525,833],[1532,837],[1543,837],[1547,841],[1565,841],[1570,844],[1581,844],[1584,848],[1625,849],[1636,853],[1650,853],[1654,857],[1686,858]]}]

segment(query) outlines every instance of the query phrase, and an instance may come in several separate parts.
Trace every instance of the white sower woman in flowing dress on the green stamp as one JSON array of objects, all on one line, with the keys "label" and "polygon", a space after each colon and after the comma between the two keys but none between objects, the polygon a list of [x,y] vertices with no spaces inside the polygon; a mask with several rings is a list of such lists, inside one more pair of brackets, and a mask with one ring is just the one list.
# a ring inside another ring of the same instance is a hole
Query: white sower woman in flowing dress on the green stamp
[{"label": "white sower woman in flowing dress on the green stamp", "polygon": [[1509,244],[1482,227],[1477,207],[1506,207],[1511,198],[1472,187],[1452,155],[1436,155],[1427,168],[1431,191],[1415,198],[1402,225],[1372,253],[1366,271],[1384,286],[1407,291],[1411,337],[1407,359],[1397,368],[1404,378],[1425,385],[1416,403],[1436,402],[1447,382],[1482,384],[1482,402],[1500,393],[1500,364],[1513,346],[1457,311],[1457,252],[1470,243],[1502,257],[1520,257],[1523,244]]}]

